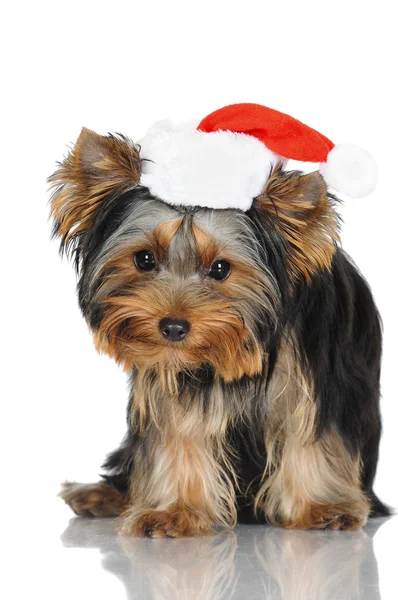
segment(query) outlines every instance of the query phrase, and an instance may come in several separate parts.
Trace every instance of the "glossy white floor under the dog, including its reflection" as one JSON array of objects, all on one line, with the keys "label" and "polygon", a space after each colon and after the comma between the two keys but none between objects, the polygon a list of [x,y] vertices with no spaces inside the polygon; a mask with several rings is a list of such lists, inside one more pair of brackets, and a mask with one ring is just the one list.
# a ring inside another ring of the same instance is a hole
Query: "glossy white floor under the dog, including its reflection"
[{"label": "glossy white floor under the dog, including its reflection", "polygon": [[19,554],[11,556],[18,564],[14,593],[8,587],[2,598],[398,597],[395,585],[391,587],[398,567],[396,517],[371,520],[359,532],[240,525],[213,537],[155,540],[120,537],[113,519],[73,517],[64,522],[66,528],[51,534],[49,525],[54,528],[55,523],[44,524],[39,545],[33,542],[28,554],[19,540]]}]

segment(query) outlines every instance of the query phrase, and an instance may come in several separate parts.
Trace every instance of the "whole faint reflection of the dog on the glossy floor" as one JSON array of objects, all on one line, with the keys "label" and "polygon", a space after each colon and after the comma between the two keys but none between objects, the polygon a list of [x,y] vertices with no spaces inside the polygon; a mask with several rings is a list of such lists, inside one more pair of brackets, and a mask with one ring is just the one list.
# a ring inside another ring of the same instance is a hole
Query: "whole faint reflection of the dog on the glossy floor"
[{"label": "whole faint reflection of the dog on the glossy floor", "polygon": [[196,539],[124,538],[112,519],[74,518],[66,547],[99,548],[129,600],[337,600],[380,598],[373,536],[363,531],[288,531],[240,526]]}]

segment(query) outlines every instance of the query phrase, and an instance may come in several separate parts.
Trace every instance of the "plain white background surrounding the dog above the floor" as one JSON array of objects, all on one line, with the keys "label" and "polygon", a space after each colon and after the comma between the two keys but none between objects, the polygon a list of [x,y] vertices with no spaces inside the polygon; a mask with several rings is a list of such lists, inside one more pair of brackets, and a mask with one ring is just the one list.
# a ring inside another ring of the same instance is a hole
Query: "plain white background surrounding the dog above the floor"
[{"label": "plain white background surrounding the dog above the floor", "polygon": [[336,143],[367,148],[379,164],[373,195],[342,209],[343,243],[384,321],[375,489],[398,506],[392,11],[390,0],[69,0],[3,9],[1,496],[23,535],[54,515],[58,535],[69,516],[55,499],[59,482],[96,480],[124,434],[127,402],[126,377],[95,353],[73,270],[49,241],[46,177],[83,125],[137,139],[157,119],[200,118],[233,102],[290,113]]}]

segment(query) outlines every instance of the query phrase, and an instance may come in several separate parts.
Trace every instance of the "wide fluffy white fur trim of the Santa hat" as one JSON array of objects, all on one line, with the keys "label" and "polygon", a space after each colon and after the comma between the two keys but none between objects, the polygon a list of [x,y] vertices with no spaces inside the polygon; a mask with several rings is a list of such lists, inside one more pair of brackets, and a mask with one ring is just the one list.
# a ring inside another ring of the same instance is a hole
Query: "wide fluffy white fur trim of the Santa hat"
[{"label": "wide fluffy white fur trim of the Santa hat", "polygon": [[243,133],[204,133],[189,124],[162,121],[139,142],[140,183],[175,205],[247,211],[280,160]]}]

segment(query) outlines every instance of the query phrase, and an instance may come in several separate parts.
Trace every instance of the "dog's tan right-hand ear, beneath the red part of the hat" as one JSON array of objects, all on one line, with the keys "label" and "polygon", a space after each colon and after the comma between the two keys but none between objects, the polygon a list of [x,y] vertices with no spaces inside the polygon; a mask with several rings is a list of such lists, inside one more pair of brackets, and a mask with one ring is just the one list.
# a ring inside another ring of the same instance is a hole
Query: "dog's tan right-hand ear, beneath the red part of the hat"
[{"label": "dog's tan right-hand ear, beneath the red part of the hat", "polygon": [[282,234],[294,278],[308,281],[318,269],[330,269],[339,217],[319,172],[303,175],[277,165],[255,207]]}]

